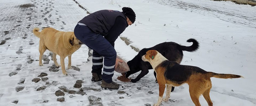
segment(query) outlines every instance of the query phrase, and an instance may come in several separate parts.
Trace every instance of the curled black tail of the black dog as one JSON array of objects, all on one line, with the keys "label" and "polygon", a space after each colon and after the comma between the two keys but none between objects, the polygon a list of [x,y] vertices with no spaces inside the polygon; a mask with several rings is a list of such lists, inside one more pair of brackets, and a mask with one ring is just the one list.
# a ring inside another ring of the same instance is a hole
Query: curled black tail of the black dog
[{"label": "curled black tail of the black dog", "polygon": [[199,43],[197,40],[188,39],[187,42],[193,42],[193,44],[191,46],[182,46],[181,45],[182,51],[195,52],[199,48]]}]

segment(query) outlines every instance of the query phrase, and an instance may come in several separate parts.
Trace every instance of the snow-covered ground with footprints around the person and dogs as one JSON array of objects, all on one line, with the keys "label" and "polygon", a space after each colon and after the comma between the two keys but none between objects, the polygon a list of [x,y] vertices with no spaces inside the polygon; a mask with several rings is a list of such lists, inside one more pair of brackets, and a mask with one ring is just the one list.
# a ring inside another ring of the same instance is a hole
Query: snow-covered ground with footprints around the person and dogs
[{"label": "snow-covered ground with footprints around the person and dogs", "polygon": [[[137,55],[130,46],[142,49],[166,41],[190,46],[186,40],[197,39],[198,51],[183,52],[181,64],[245,77],[212,78],[210,97],[214,106],[256,106],[255,6],[211,0],[76,1],[90,13],[103,9],[122,11],[124,6],[133,8],[136,21],[121,34],[132,43],[127,46],[118,38],[115,46],[118,55],[126,61]],[[91,82],[92,63],[87,62],[85,45],[73,54],[75,67],[67,70],[68,76],[58,71],[61,68],[52,66],[49,51],[44,53],[44,66],[38,66],[39,39],[32,29],[53,27],[73,31],[76,23],[87,15],[73,0],[2,0],[0,3],[1,106],[152,106],[157,102],[159,92],[153,70],[137,83],[118,81],[116,78],[121,74],[114,73],[113,80],[124,86],[119,90],[102,90],[100,82]],[[58,102],[58,98],[64,98],[64,102]],[[207,106],[202,96],[199,101]],[[161,106],[193,105],[188,85],[183,84]]]}]

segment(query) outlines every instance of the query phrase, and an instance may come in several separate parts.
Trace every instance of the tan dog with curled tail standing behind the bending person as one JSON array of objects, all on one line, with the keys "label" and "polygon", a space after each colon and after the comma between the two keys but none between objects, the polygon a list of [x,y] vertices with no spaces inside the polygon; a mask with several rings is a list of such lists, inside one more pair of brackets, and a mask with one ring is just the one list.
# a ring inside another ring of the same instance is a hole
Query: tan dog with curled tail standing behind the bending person
[{"label": "tan dog with curled tail standing behind the bending person", "polygon": [[[43,53],[48,49],[53,52],[53,61],[57,67],[62,67],[62,73],[68,75],[65,70],[64,59],[68,56],[68,69],[71,69],[71,55],[81,47],[82,42],[76,39],[74,32],[58,31],[54,28],[45,28],[39,32],[34,28],[33,33],[40,38],[39,41],[39,66],[42,64]],[[57,63],[56,54],[60,56],[60,65]]]}]

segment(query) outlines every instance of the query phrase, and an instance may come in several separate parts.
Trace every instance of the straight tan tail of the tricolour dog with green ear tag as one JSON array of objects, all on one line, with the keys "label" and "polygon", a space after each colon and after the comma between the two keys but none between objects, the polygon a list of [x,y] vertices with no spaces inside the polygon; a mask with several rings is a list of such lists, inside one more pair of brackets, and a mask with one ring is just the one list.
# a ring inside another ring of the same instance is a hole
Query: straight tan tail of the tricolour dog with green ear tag
[{"label": "straight tan tail of the tricolour dog with green ear tag", "polygon": [[223,79],[228,79],[228,78],[244,78],[243,76],[240,75],[234,75],[234,74],[224,74],[224,73],[214,73],[214,72],[208,72],[208,75],[210,77],[215,77],[215,78],[223,78]]}]

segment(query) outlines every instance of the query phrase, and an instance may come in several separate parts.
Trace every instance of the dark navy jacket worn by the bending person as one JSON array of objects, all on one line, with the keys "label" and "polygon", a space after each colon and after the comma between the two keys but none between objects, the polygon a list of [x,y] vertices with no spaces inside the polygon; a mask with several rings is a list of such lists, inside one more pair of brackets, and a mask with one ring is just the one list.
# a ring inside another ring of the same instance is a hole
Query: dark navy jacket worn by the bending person
[{"label": "dark navy jacket worn by the bending person", "polygon": [[117,37],[128,27],[126,15],[115,10],[100,10],[89,14],[79,21],[92,31],[104,36],[114,47]]}]

